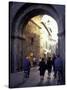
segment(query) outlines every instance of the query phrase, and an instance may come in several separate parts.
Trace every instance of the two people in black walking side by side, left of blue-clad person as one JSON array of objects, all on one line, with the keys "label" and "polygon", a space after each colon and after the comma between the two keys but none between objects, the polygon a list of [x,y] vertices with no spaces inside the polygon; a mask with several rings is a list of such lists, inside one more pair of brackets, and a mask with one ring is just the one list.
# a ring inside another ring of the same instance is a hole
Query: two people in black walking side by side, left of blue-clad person
[{"label": "two people in black walking side by side, left of blue-clad person", "polygon": [[51,73],[51,70],[52,70],[51,57],[48,57],[47,60],[42,58],[42,60],[39,62],[39,70],[40,70],[41,80],[44,79],[44,74],[45,74],[46,70],[48,70],[48,76],[50,76],[50,73]]}]

